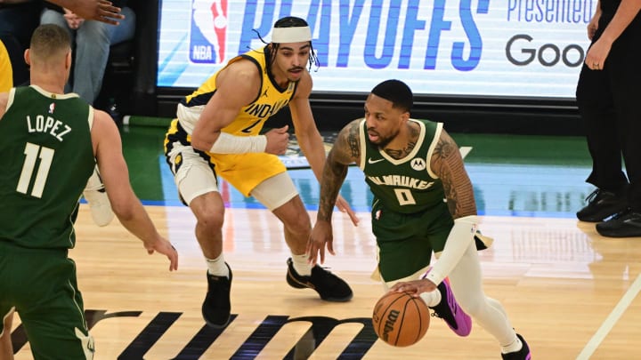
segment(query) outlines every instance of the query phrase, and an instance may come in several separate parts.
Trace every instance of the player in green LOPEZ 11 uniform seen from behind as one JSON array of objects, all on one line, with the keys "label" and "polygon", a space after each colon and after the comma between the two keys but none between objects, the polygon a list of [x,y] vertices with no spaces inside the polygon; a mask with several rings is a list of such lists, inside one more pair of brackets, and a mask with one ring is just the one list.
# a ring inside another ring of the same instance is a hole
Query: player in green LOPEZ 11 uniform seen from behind
[{"label": "player in green LOPEZ 11 uniform seen from behind", "polygon": [[[28,87],[0,93],[0,318],[20,319],[34,358],[93,358],[93,339],[69,249],[78,200],[96,161],[118,220],[177,268],[178,254],[129,184],[118,128],[76,94],[64,94],[71,48],[56,25],[36,29],[25,53]],[[6,324],[5,324],[6,325]],[[6,344],[10,333],[0,333]]]}]

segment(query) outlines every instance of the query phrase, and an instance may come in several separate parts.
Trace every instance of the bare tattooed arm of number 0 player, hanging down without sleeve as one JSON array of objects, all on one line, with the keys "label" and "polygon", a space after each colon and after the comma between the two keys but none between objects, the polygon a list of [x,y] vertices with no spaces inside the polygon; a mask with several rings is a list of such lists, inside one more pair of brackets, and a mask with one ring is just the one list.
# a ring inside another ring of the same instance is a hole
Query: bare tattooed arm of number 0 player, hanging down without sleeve
[{"label": "bare tattooed arm of number 0 player, hanging down without sleeve", "polygon": [[345,181],[345,176],[347,176],[347,166],[357,163],[360,158],[360,122],[361,119],[354,120],[338,133],[338,138],[325,160],[321,176],[321,199],[316,224],[307,242],[307,256],[312,264],[316,263],[319,255],[321,256],[321,264],[325,261],[326,245],[328,252],[335,255],[331,216],[338,192]]}]

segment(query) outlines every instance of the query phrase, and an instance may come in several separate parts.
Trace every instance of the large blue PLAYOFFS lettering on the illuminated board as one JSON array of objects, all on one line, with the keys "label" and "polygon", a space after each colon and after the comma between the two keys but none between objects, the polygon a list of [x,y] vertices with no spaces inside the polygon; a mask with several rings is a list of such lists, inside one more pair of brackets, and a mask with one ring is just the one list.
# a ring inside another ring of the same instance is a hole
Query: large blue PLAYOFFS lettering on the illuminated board
[{"label": "large blue PLAYOFFS lettering on the illuminated board", "polygon": [[[280,6],[273,0],[262,6],[258,5],[260,2],[248,1],[238,53],[251,48],[259,34],[270,33],[275,20],[292,15],[293,1],[282,0]],[[390,0],[387,3],[382,0],[310,2],[305,19],[316,36],[312,38],[312,44],[321,67],[347,68],[353,55],[351,52],[362,52],[363,61],[369,68],[410,68],[411,60],[423,58],[424,69],[435,69],[439,52],[449,52],[450,64],[442,64],[444,67],[469,71],[478,66],[483,40],[475,15],[487,14],[490,0],[450,0],[450,3],[458,4],[458,12],[447,15],[448,0]],[[333,23],[338,23],[339,34],[330,34],[332,30],[336,31],[331,26]],[[442,35],[450,38],[447,35],[450,31],[461,34],[460,39],[442,44]],[[332,47],[337,53],[329,53],[330,36],[339,39],[338,45]]]}]

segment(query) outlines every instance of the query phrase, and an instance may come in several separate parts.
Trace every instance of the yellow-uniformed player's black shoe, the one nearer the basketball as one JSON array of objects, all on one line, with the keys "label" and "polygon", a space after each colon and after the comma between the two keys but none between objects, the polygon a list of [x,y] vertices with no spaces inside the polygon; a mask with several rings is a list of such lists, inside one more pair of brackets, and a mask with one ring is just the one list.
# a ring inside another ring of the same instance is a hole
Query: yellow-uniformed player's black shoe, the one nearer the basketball
[{"label": "yellow-uniformed player's black shoe, the one nearer the basketball", "polygon": [[322,300],[326,301],[343,302],[352,299],[353,292],[349,285],[328,270],[316,265],[312,268],[311,276],[301,276],[296,273],[291,258],[287,262],[287,282],[291,287],[313,289],[321,295]]}]

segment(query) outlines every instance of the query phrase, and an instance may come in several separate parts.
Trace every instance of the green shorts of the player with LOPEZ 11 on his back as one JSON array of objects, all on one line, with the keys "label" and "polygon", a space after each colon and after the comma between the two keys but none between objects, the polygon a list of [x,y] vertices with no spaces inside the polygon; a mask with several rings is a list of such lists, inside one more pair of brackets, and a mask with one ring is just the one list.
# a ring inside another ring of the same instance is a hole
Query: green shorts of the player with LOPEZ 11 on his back
[{"label": "green shorts of the player with LOPEZ 11 on his back", "polygon": [[93,358],[76,263],[67,253],[0,240],[0,318],[15,308],[35,359]]}]

